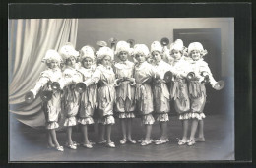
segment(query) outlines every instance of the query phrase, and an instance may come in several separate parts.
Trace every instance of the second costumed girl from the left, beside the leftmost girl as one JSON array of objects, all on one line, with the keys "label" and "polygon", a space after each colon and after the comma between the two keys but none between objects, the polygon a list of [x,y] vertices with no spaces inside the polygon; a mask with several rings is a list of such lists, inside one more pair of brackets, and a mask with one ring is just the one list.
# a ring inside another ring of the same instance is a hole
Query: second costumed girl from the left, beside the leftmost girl
[{"label": "second costumed girl from the left, beside the leftmost girl", "polygon": [[77,125],[77,114],[80,105],[80,94],[75,89],[75,85],[82,81],[83,76],[78,71],[77,64],[79,52],[75,50],[71,43],[67,43],[60,48],[60,54],[64,60],[65,67],[63,71],[64,78],[64,126],[67,129],[66,146],[71,149],[77,149],[77,143],[72,140],[72,127]]}]

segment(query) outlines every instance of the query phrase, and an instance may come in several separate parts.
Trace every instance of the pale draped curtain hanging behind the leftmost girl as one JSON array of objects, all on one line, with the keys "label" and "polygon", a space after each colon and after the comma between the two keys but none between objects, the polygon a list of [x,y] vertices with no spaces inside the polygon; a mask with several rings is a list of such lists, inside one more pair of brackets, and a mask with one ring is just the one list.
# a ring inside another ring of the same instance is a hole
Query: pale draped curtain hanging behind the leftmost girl
[{"label": "pale draped curtain hanging behind the leftmost girl", "polygon": [[27,104],[24,97],[46,69],[41,60],[48,49],[58,51],[66,42],[76,46],[78,19],[22,19],[8,24],[9,110],[24,124],[43,126],[40,98]]}]

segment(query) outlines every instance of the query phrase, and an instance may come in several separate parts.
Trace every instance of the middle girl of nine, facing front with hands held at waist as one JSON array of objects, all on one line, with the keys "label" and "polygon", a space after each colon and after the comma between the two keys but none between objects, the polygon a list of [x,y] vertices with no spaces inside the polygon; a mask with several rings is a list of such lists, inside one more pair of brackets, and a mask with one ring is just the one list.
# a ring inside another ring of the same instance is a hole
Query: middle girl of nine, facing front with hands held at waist
[{"label": "middle girl of nine, facing front with hands held at waist", "polygon": [[136,143],[132,139],[132,119],[135,118],[135,79],[134,63],[128,61],[131,54],[130,45],[126,41],[119,41],[116,44],[115,54],[120,62],[114,65],[116,77],[116,111],[121,122],[123,139],[121,144],[127,141]]}]

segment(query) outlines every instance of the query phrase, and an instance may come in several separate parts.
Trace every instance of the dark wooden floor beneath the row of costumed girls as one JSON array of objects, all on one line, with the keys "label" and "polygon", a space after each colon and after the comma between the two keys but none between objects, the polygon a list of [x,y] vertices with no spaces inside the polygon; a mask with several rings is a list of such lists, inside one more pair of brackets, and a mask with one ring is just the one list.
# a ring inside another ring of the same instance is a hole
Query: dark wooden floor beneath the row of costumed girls
[{"label": "dark wooden floor beneath the row of costumed girls", "polygon": [[[24,126],[16,120],[10,122],[10,161],[28,162],[108,162],[108,161],[208,161],[234,159],[234,123],[233,118],[224,115],[208,115],[205,119],[205,142],[197,142],[194,146],[178,146],[176,138],[181,137],[181,123],[177,116],[172,116],[168,122],[168,136],[170,142],[162,145],[137,144],[121,145],[120,123],[112,127],[112,140],[116,148],[107,148],[96,144],[88,149],[79,146],[77,150],[65,148],[64,152],[46,148],[45,131]],[[97,124],[95,132],[90,132],[90,139],[97,141]],[[81,134],[74,129],[73,140],[80,141]],[[140,119],[133,121],[133,138],[140,140],[144,135]],[[65,143],[65,132],[58,132],[61,145]],[[153,126],[152,138],[160,137],[160,127]]]}]

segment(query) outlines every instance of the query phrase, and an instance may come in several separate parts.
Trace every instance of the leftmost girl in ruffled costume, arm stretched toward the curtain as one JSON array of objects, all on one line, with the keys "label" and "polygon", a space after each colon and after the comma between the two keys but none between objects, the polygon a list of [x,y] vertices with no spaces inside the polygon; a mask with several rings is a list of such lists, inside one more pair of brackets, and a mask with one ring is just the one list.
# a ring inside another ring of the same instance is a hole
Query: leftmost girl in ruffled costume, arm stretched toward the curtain
[{"label": "leftmost girl in ruffled costume, arm stretched toward the curtain", "polygon": [[[51,91],[51,97],[47,101],[42,101],[42,110],[45,114],[45,128],[48,130],[48,147],[56,148],[58,151],[64,151],[57,140],[56,129],[59,127],[58,119],[61,115],[61,91],[60,89],[52,89],[51,84],[57,82],[61,84],[62,72],[60,63],[62,58],[55,50],[47,50],[42,62],[47,65],[47,70],[41,72],[39,80],[32,88],[33,98],[41,91]],[[62,86],[63,87],[63,86]]]}]

